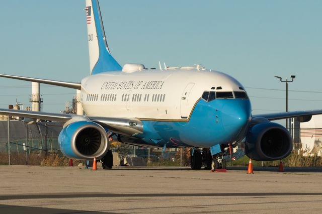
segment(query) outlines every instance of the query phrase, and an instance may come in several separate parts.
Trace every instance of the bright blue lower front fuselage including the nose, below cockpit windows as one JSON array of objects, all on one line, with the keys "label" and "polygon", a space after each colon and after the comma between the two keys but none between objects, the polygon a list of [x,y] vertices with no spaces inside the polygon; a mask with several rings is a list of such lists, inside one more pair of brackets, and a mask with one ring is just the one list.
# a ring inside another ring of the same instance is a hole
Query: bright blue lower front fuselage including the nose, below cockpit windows
[{"label": "bright blue lower front fuselage including the nose, below cockpit windows", "polygon": [[[142,121],[144,132],[136,138],[118,140],[152,147],[193,146],[210,148],[238,142],[247,133],[251,118],[249,99],[200,99],[188,122]],[[115,136],[116,138],[116,136]]]}]

